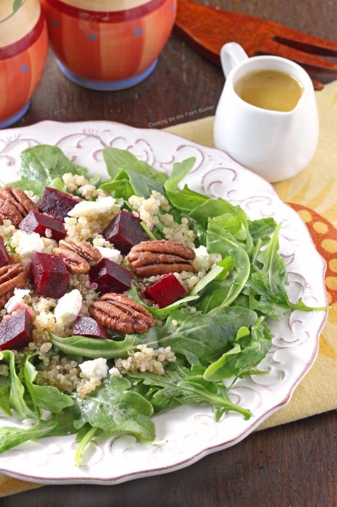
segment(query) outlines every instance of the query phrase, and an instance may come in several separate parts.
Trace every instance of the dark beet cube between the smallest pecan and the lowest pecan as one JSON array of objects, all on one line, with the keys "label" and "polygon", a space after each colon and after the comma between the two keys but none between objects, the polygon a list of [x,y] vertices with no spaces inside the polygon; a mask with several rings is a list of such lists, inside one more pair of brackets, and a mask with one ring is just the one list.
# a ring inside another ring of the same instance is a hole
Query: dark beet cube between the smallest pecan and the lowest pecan
[{"label": "dark beet cube between the smallest pecan and the lowest pecan", "polygon": [[109,259],[102,259],[96,266],[92,266],[89,277],[92,283],[97,283],[97,290],[102,294],[121,294],[131,287],[129,271]]}]

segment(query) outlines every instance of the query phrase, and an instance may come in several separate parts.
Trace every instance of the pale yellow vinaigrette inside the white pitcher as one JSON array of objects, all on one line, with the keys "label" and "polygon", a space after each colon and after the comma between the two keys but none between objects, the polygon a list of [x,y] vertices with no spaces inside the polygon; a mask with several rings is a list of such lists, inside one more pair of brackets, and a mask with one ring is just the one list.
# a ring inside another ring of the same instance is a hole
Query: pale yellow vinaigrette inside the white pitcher
[{"label": "pale yellow vinaigrette inside the white pitcher", "polygon": [[259,70],[242,76],[234,86],[248,104],[271,111],[292,111],[303,93],[296,78],[278,70]]}]

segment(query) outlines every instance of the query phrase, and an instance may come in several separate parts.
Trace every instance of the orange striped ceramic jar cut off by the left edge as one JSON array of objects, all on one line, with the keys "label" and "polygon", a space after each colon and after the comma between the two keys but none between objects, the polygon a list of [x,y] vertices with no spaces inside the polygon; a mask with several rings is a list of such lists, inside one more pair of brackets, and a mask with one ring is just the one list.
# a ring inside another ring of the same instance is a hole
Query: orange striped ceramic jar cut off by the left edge
[{"label": "orange striped ceramic jar cut off by the left edge", "polygon": [[47,53],[47,25],[38,0],[1,0],[0,128],[26,113]]}]

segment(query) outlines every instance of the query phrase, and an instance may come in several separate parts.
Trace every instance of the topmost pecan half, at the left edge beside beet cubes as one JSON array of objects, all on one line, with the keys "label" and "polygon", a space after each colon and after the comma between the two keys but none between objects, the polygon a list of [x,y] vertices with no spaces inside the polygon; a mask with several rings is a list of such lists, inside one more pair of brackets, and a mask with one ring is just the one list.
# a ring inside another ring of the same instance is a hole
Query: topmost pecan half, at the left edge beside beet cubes
[{"label": "topmost pecan half, at the left edge beside beet cubes", "polygon": [[37,206],[22,190],[12,187],[0,189],[0,224],[10,220],[15,227],[19,227],[32,210],[37,210]]}]

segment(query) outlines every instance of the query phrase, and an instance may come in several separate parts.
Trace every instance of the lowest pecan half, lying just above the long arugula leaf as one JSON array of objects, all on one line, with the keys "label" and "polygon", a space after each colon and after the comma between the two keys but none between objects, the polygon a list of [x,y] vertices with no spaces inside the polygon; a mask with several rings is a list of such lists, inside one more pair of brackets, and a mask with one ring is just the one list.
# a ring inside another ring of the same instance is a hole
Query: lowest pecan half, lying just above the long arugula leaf
[{"label": "lowest pecan half, lying just above the long arugula leaf", "polygon": [[122,294],[104,294],[89,307],[90,315],[108,329],[120,333],[145,333],[154,320],[140,303]]}]

